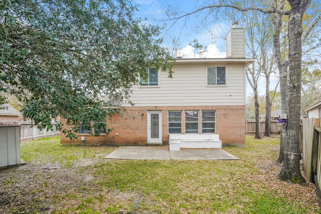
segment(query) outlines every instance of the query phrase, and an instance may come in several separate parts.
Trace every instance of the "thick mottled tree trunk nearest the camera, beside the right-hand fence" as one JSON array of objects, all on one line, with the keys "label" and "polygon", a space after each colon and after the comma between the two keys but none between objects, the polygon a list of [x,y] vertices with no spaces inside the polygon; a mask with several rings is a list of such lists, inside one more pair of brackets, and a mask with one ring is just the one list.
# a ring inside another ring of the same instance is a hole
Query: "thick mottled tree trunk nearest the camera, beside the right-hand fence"
[{"label": "thick mottled tree trunk nearest the camera, beside the right-hand fence", "polygon": [[[286,146],[280,172],[282,180],[304,182],[300,172],[300,103],[301,103],[301,61],[302,61],[302,17],[307,5],[288,0],[291,5],[288,26],[289,39],[289,83],[288,114],[286,124]],[[309,1],[305,3],[309,4]]]}]

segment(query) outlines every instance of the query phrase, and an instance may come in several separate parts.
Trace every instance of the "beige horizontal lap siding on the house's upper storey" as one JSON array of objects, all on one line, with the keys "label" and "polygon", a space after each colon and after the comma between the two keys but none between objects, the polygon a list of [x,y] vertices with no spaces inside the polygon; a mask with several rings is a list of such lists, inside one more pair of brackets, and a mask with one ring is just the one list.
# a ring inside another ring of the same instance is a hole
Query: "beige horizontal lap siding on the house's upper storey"
[{"label": "beige horizontal lap siding on the house's upper storey", "polygon": [[206,86],[206,66],[215,64],[176,64],[173,78],[159,71],[159,87],[134,86],[130,101],[137,107],[245,105],[244,64],[217,64],[226,66],[226,86],[210,87]]}]

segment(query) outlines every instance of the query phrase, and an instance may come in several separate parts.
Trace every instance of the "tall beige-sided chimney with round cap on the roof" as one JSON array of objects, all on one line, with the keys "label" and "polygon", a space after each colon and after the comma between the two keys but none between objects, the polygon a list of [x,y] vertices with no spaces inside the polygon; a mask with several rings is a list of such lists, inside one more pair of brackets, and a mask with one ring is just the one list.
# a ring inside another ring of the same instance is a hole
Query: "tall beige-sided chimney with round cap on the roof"
[{"label": "tall beige-sided chimney with round cap on the roof", "polygon": [[239,22],[232,22],[232,28],[226,35],[226,57],[245,58],[245,31]]}]

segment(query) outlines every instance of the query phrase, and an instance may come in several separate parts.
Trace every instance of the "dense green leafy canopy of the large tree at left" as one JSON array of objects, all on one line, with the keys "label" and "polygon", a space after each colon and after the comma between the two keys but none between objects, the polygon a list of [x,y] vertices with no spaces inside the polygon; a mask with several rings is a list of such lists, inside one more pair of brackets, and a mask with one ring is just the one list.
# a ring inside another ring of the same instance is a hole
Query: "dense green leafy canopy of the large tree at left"
[{"label": "dense green leafy canopy of the large tree at left", "polygon": [[57,127],[71,139],[80,122],[96,126],[92,135],[110,132],[101,121],[120,108],[104,105],[126,102],[146,68],[171,76],[160,28],[134,19],[135,10],[129,0],[0,1],[0,91],[25,103],[23,114],[40,128],[62,115],[67,124]]}]

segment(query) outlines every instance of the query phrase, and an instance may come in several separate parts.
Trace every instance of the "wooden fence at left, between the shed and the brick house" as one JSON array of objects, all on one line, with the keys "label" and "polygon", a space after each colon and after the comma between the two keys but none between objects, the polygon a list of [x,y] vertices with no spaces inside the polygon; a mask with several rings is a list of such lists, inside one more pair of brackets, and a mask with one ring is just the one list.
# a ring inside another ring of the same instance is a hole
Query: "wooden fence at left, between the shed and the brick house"
[{"label": "wooden fence at left, between the shed and the brick house", "polygon": [[46,129],[40,131],[40,129],[37,128],[37,125],[32,124],[32,122],[21,121],[19,123],[21,124],[20,142],[60,135],[60,131],[56,130],[55,123],[53,123],[53,131],[47,131]]}]

